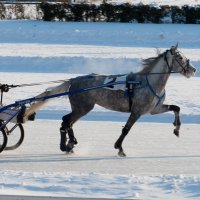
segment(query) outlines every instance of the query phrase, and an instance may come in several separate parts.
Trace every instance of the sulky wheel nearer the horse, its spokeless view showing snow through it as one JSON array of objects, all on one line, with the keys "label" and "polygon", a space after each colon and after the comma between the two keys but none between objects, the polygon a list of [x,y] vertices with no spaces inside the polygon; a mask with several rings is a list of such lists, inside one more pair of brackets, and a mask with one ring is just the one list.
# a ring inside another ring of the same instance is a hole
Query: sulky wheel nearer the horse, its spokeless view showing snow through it
[{"label": "sulky wheel nearer the horse, its spokeless view showing snow through it", "polygon": [[24,128],[22,124],[8,123],[4,128],[8,141],[4,150],[14,150],[18,148],[24,140]]}]

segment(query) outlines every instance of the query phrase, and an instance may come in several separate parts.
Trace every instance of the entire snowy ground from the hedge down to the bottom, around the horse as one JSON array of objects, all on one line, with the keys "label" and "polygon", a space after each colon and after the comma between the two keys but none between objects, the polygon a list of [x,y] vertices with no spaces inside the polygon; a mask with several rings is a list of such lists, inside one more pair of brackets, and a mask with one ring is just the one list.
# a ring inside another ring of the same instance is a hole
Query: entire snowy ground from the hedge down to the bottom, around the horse
[{"label": "entire snowy ground from the hedge down to the bottom, around the horse", "polygon": [[[137,71],[142,58],[176,42],[198,70],[191,79],[172,76],[166,87],[166,102],[181,107],[181,137],[172,133],[171,114],[144,117],[124,142],[127,158],[113,148],[127,115],[96,107],[75,125],[79,144],[67,156],[59,150],[58,130],[68,100],[50,102],[25,124],[22,146],[0,155],[0,194],[200,199],[199,35],[199,25],[0,21],[0,83]],[[4,102],[51,86],[12,89]]]}]

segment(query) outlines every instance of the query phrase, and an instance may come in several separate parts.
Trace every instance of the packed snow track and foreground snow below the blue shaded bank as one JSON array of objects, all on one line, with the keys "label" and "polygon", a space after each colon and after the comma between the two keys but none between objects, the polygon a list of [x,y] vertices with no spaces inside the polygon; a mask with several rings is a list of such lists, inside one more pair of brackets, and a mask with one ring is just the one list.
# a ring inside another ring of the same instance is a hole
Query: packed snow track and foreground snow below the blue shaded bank
[{"label": "packed snow track and foreground snow below the blue shaded bank", "polygon": [[[199,199],[200,125],[137,123],[124,142],[113,144],[120,122],[80,121],[75,154],[59,151],[60,121],[25,124],[22,146],[0,156],[0,194],[113,199]],[[163,148],[164,147],[164,148]]]}]

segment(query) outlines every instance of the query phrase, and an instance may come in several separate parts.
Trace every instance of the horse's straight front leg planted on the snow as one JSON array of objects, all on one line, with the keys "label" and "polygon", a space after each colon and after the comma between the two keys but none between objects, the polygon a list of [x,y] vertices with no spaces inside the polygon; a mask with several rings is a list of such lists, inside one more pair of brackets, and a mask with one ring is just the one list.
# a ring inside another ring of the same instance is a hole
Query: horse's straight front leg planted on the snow
[{"label": "horse's straight front leg planted on the snow", "polygon": [[121,157],[126,156],[126,154],[124,153],[124,150],[122,148],[122,142],[124,141],[124,138],[126,137],[126,135],[129,133],[133,124],[139,119],[139,117],[140,117],[140,115],[134,115],[134,114],[130,115],[126,125],[122,129],[122,133],[121,133],[120,137],[115,142],[114,147],[115,147],[115,149],[119,149],[118,155]]}]

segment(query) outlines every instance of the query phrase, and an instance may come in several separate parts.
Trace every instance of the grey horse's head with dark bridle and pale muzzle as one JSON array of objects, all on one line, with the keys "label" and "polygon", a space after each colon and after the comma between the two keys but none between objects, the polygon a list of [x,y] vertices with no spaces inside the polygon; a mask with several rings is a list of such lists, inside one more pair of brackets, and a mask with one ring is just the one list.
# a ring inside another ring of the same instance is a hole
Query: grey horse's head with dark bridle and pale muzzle
[{"label": "grey horse's head with dark bridle and pale muzzle", "polygon": [[194,76],[196,69],[190,63],[190,60],[178,50],[178,43],[176,46],[172,46],[169,52],[172,56],[172,70],[174,72],[180,72],[187,78]]}]

